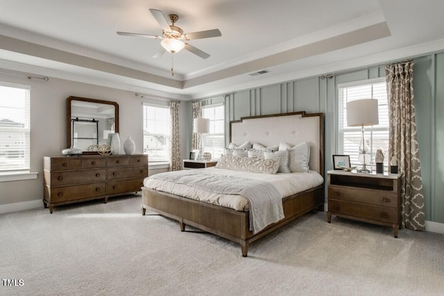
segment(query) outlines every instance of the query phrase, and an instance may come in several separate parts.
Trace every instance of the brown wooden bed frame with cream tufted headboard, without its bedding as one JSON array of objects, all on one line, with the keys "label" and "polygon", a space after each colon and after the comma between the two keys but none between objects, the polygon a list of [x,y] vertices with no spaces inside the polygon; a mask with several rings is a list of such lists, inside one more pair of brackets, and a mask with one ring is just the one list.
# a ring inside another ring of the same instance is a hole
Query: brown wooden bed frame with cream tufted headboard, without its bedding
[{"label": "brown wooden bed frame with cream tufted headboard, without its bedding", "polygon": [[[221,204],[192,199],[184,196],[186,194],[181,194],[180,192],[185,192],[181,190],[171,191],[173,192],[171,193],[163,189],[157,190],[143,186],[142,215],[145,215],[146,209],[148,209],[177,220],[182,232],[185,231],[186,225],[190,225],[237,242],[241,245],[242,256],[245,257],[248,254],[248,245],[258,238],[273,232],[309,211],[315,209],[323,211],[325,198],[322,178],[324,175],[324,123],[322,113],[292,112],[249,116],[243,117],[239,121],[231,121],[230,143],[244,143],[246,141],[261,143],[263,146],[274,146],[276,143],[298,146],[303,142],[309,143],[309,173],[321,176],[321,182],[318,180],[314,185],[304,187],[300,192],[281,196],[283,218],[261,228],[259,231],[252,229],[252,217],[250,215],[252,209],[244,206],[241,206],[240,209],[232,209]],[[203,168],[200,171],[209,174],[212,169],[214,171],[218,170],[218,168]],[[220,173],[221,171],[223,170],[217,172]],[[195,170],[194,173],[198,175],[199,172]],[[153,182],[153,180],[149,182]],[[144,182],[144,184],[148,183]],[[280,190],[280,194],[284,194],[282,190]]]}]

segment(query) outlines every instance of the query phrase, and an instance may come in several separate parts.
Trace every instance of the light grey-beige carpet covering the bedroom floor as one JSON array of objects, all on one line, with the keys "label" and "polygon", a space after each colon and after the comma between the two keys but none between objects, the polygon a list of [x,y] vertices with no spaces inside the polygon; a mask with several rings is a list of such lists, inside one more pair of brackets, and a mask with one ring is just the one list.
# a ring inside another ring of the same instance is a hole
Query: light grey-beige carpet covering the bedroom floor
[{"label": "light grey-beige carpet covering the bedroom floor", "polygon": [[[142,216],[139,195],[0,216],[0,295],[443,295],[444,235],[314,212],[250,245]],[[196,230],[196,229],[194,229]]]}]

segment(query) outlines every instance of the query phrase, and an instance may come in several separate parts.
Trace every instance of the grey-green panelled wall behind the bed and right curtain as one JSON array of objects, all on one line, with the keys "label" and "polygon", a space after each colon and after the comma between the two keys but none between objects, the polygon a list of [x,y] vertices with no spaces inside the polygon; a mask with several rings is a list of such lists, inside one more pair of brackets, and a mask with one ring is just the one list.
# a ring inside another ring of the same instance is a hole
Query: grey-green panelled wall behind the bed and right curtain
[{"label": "grey-green panelled wall behind the bed and right curtain", "polygon": [[[413,88],[420,144],[425,219],[444,223],[444,53],[415,59]],[[384,67],[358,69],[333,78],[311,77],[278,85],[266,85],[227,94],[216,101],[225,103],[225,142],[229,122],[242,116],[282,112],[323,112],[325,114],[325,171],[332,168],[337,143],[337,85],[384,77]],[[212,99],[214,100],[214,99]],[[211,104],[205,100],[204,104]]]}]

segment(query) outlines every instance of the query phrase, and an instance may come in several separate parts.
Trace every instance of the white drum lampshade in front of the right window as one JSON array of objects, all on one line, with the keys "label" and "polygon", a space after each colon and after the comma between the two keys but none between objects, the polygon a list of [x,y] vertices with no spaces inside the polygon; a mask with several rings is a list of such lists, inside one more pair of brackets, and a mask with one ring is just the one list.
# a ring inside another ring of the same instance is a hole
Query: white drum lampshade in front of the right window
[{"label": "white drum lampshade in front of the right window", "polygon": [[347,125],[377,125],[379,116],[377,111],[377,100],[375,98],[364,98],[347,102]]}]

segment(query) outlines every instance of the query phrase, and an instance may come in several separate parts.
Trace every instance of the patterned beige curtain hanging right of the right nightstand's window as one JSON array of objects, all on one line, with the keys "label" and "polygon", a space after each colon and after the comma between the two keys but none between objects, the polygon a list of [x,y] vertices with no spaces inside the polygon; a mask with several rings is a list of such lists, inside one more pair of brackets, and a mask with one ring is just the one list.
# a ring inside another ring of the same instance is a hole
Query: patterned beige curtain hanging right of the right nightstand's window
[{"label": "patterned beige curtain hanging right of the right nightstand's window", "polygon": [[402,224],[425,230],[421,163],[413,105],[413,61],[386,65],[388,93],[388,155],[402,173]]}]

